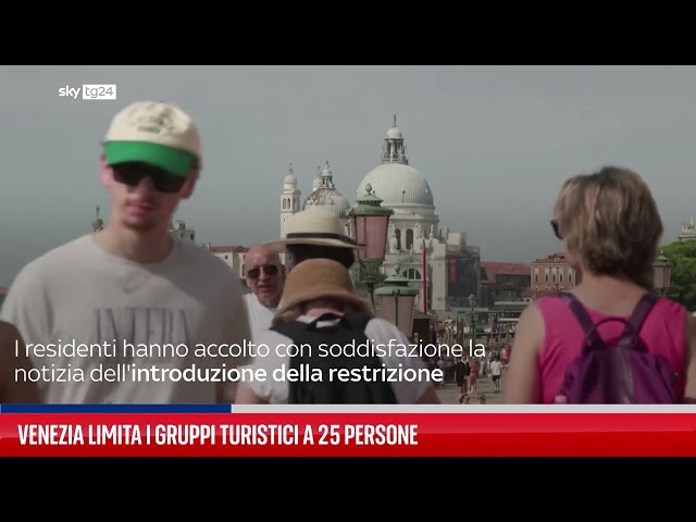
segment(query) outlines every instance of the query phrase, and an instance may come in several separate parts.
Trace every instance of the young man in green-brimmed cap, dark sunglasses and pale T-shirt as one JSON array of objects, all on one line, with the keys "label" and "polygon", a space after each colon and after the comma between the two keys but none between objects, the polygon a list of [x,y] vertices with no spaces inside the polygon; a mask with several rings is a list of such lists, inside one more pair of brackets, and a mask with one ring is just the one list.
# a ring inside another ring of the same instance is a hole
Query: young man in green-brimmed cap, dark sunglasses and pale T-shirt
[{"label": "young man in green-brimmed cap, dark sunglasses and pale T-shirt", "polygon": [[0,313],[27,347],[47,347],[29,349],[36,368],[66,370],[39,382],[46,402],[232,401],[212,370],[249,361],[219,346],[250,338],[240,284],[169,234],[200,167],[198,128],[178,107],[136,102],[112,120],[100,173],[107,226],[28,263]]}]

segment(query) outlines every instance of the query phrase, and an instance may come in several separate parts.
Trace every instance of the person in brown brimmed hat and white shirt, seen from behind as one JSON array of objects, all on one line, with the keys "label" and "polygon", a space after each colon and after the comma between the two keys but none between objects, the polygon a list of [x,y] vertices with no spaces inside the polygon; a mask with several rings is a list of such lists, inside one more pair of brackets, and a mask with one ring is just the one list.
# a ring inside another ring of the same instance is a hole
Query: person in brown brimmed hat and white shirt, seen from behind
[{"label": "person in brown brimmed hat and white shirt, seen from behind", "polygon": [[[346,313],[361,313],[369,318],[364,334],[373,346],[393,346],[391,352],[382,355],[377,351],[382,364],[387,369],[413,369],[417,372],[424,369],[423,361],[418,357],[398,357],[394,350],[398,346],[409,346],[406,336],[391,323],[375,318],[370,304],[355,293],[355,287],[348,271],[339,262],[331,259],[308,259],[298,264],[287,276],[285,290],[278,307],[278,313],[273,319],[273,326],[285,322],[301,321],[312,323],[321,318],[318,327],[336,324],[339,319],[322,318],[333,314],[337,318]],[[391,343],[389,343],[391,340]],[[258,345],[265,345],[269,349],[266,357],[256,357],[250,369],[258,374],[264,370],[266,378],[245,380],[239,384],[236,403],[288,403],[289,383],[273,378],[274,371],[290,368],[290,356],[287,347],[294,340],[275,330],[269,330],[257,339]],[[314,347],[316,349],[316,347]],[[439,403],[434,385],[428,381],[390,383],[394,395],[399,403]]]}]

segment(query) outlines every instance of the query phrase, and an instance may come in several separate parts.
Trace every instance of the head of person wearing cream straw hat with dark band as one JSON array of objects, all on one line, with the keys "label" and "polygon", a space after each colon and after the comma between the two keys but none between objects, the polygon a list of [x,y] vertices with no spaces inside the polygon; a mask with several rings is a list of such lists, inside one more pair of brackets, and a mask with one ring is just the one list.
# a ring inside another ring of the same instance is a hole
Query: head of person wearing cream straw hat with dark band
[{"label": "head of person wearing cream straw hat with dark band", "polygon": [[323,258],[350,269],[356,262],[356,250],[364,246],[346,235],[338,216],[318,207],[293,214],[286,227],[284,238],[266,243],[263,247],[287,252],[290,266],[308,259]]}]

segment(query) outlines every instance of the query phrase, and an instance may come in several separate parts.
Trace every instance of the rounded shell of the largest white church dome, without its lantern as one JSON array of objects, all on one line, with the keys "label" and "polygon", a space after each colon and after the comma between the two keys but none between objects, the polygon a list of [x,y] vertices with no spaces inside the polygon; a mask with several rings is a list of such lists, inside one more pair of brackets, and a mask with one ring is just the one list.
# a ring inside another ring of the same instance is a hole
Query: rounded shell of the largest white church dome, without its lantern
[{"label": "rounded shell of the largest white church dome, without its lantern", "polygon": [[360,182],[357,196],[362,198],[365,185],[372,185],[373,194],[383,200],[383,207],[420,204],[435,207],[433,191],[427,181],[415,169],[403,163],[382,163]]}]

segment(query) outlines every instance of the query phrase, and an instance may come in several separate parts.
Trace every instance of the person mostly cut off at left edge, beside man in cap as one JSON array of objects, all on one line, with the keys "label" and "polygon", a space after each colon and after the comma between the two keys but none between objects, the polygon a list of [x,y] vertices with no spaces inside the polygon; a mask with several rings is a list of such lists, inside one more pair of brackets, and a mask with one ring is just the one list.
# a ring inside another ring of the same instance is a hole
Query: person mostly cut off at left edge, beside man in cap
[{"label": "person mostly cut off at left edge, beside man in cap", "polygon": [[27,372],[32,369],[24,340],[14,325],[0,321],[0,403],[40,402],[37,385],[30,381],[17,380],[17,369]]}]

